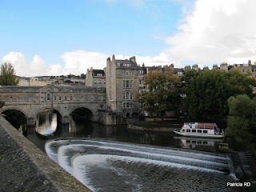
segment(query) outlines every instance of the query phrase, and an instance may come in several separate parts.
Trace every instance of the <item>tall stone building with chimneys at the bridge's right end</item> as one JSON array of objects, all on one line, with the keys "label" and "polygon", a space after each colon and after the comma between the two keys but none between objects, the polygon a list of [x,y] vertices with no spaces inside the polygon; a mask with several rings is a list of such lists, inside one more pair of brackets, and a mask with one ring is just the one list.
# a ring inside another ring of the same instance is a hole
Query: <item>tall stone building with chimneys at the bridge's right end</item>
[{"label": "tall stone building with chimneys at the bridge's right end", "polygon": [[106,106],[122,117],[138,114],[138,64],[129,60],[106,59]]}]

